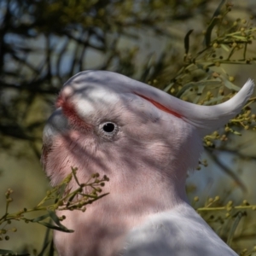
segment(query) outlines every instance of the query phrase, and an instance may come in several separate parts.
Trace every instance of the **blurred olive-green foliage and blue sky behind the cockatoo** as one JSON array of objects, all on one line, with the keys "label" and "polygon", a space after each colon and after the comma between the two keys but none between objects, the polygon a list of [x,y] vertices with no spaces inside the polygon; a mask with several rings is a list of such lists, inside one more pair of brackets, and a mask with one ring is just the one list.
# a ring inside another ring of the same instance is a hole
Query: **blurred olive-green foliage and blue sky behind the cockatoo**
[{"label": "blurred olive-green foliage and blue sky behind the cockatoo", "polygon": [[[40,165],[42,130],[67,79],[109,70],[185,101],[216,104],[256,80],[255,17],[253,0],[0,0],[0,218],[7,189],[14,190],[9,212],[36,206],[49,189]],[[245,122],[205,138],[201,170],[188,174],[193,207],[217,195],[216,206],[256,205],[253,113],[252,103],[242,112]],[[252,208],[199,212],[236,252],[253,255]],[[46,229],[9,226],[18,231],[0,248],[37,255]]]}]

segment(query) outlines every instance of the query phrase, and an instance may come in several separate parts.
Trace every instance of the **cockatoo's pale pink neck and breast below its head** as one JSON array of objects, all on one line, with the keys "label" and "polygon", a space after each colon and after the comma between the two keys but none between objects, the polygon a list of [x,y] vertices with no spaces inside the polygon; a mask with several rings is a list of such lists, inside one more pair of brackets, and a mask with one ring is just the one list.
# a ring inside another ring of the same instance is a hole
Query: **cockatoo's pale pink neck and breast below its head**
[{"label": "cockatoo's pale pink neck and breast below its head", "polygon": [[[103,189],[109,195],[89,205],[85,212],[60,212],[67,217],[63,224],[75,231],[62,236],[56,231],[57,248],[63,247],[63,243],[76,244],[76,252],[68,253],[69,247],[66,247],[66,255],[79,255],[84,250],[84,255],[116,255],[129,230],[143,223],[150,215],[172,210],[187,201],[186,170],[171,170],[172,166],[168,166],[169,169],[166,167],[161,172],[154,166],[138,164],[133,170],[125,170],[123,166],[122,172],[110,172],[110,180]],[[82,166],[77,167],[83,170]],[[169,172],[172,175],[162,174]],[[104,173],[99,174],[102,176]],[[83,174],[78,172],[78,175],[81,178]]]}]

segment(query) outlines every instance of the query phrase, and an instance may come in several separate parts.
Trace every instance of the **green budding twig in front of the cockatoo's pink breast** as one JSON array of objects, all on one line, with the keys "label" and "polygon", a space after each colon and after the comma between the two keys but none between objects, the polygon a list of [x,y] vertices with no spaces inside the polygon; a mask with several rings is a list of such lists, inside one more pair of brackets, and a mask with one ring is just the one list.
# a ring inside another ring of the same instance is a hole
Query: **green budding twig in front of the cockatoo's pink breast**
[{"label": "green budding twig in front of the cockatoo's pink breast", "polygon": [[[9,213],[9,205],[13,202],[11,195],[12,189],[8,189],[5,193],[6,206],[3,216],[0,218],[0,242],[3,240],[9,240],[8,233],[16,232],[15,227],[9,228],[9,225],[13,226],[14,221],[24,221],[25,223],[38,223],[42,224],[50,230],[59,230],[62,232],[73,232],[69,230],[63,224],[61,220],[65,219],[65,215],[57,216],[55,211],[86,211],[86,205],[93,203],[108,195],[108,193],[102,194],[102,187],[109,181],[109,178],[104,175],[100,178],[99,174],[93,174],[89,177],[86,183],[79,183],[76,176],[77,169],[72,168],[72,172],[63,181],[55,186],[53,189],[47,191],[44,199],[38,203],[36,207],[23,208],[19,212]],[[77,188],[73,189],[70,185],[72,179],[75,180]],[[90,193],[88,192],[90,191]],[[37,218],[26,218],[29,212],[44,212],[43,215],[39,215]],[[48,221],[47,221],[48,220]],[[48,241],[45,241],[48,242]],[[12,251],[0,250],[0,253],[8,255],[29,255],[29,254],[15,254]]]}]

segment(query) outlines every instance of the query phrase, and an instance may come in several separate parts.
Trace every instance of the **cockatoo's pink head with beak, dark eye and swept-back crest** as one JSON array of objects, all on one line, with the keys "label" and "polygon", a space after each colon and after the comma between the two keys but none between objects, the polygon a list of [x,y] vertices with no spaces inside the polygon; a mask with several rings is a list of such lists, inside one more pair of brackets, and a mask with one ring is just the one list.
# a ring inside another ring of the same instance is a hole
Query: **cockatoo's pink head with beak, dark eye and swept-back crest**
[{"label": "cockatoo's pink head with beak, dark eye and swept-back crest", "polygon": [[78,73],[64,84],[44,128],[45,171],[53,185],[73,166],[82,181],[106,174],[106,190],[117,195],[149,195],[157,183],[183,194],[201,138],[239,113],[252,91],[249,80],[230,101],[207,107],[118,73]]}]

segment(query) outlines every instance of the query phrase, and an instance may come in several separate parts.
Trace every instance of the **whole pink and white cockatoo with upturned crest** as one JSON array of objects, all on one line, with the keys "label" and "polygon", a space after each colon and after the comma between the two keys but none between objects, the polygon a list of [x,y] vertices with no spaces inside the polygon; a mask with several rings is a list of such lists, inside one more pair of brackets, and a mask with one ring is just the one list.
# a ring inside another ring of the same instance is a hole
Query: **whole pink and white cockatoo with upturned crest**
[{"label": "whole pink and white cockatoo with upturned crest", "polygon": [[69,79],[44,128],[44,170],[52,185],[71,166],[80,183],[96,172],[110,181],[109,195],[85,212],[64,213],[74,232],[55,231],[59,255],[237,255],[189,206],[185,181],[202,137],[239,113],[252,92],[248,80],[229,101],[199,106],[118,73]]}]

